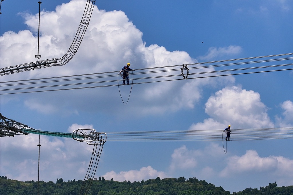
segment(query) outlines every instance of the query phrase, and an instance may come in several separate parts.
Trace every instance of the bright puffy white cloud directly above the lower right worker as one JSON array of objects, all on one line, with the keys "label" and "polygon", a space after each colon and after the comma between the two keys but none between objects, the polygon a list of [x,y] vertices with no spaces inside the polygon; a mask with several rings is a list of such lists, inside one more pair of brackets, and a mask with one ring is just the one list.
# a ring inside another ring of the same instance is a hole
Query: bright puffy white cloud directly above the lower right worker
[{"label": "bright puffy white cloud directly above the lower right worker", "polygon": [[267,109],[260,94],[237,86],[217,91],[205,103],[208,115],[222,123],[228,122],[233,128],[273,127]]}]

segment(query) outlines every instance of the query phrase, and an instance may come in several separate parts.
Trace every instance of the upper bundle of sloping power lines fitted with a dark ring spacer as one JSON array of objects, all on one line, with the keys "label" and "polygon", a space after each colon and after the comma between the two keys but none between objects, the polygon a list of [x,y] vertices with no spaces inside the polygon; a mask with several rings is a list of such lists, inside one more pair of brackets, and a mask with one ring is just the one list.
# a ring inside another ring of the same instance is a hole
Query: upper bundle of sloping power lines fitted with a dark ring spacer
[{"label": "upper bundle of sloping power lines fitted with a dark ring spacer", "polygon": [[[193,63],[185,65],[189,70],[188,79],[199,79],[199,78],[209,78],[209,77],[220,77],[229,75],[244,75],[253,73],[267,73],[275,71],[293,70],[293,57],[285,58],[275,58],[275,59],[263,59],[256,61],[241,61],[255,58],[268,58],[276,56],[286,56],[293,54],[280,54],[272,56],[260,56],[253,58],[240,58],[225,61],[212,61],[203,63]],[[231,61],[241,61],[233,63],[224,63]],[[289,63],[280,64],[269,64],[263,66],[248,66],[259,63],[273,63],[277,61],[289,61]],[[215,64],[211,64],[215,63]],[[202,65],[209,64],[209,65]],[[196,65],[196,66],[194,66]],[[236,67],[231,69],[216,70],[216,68],[225,68],[228,66],[241,66],[246,65],[246,67]],[[162,67],[150,67],[136,69],[135,75],[136,82],[133,84],[144,84],[144,83],[154,83],[154,82],[164,82],[164,81],[175,81],[182,80],[182,73],[184,68],[183,65],[171,65]],[[287,67],[282,68],[281,67]],[[209,70],[213,68],[213,70]],[[182,71],[181,71],[182,70]],[[256,71],[252,71],[256,70]],[[47,91],[60,91],[60,90],[70,90],[70,89],[87,89],[96,87],[113,87],[119,86],[119,80],[117,83],[118,71],[103,72],[103,73],[91,73],[91,74],[80,74],[80,75],[69,75],[60,77],[48,77],[48,78],[38,78],[38,79],[28,79],[28,80],[14,80],[0,82],[0,94],[21,94],[21,93],[33,93],[33,92],[47,92]],[[145,76],[144,76],[145,75]],[[90,81],[91,80],[91,81]],[[85,81],[85,82],[82,82]],[[140,81],[140,82],[139,82]],[[56,83],[56,84],[53,84]],[[47,84],[47,85],[46,85]],[[15,86],[15,87],[14,87]],[[23,87],[22,87],[23,86]],[[78,87],[72,87],[78,86]],[[39,89],[39,90],[37,90]]]}]

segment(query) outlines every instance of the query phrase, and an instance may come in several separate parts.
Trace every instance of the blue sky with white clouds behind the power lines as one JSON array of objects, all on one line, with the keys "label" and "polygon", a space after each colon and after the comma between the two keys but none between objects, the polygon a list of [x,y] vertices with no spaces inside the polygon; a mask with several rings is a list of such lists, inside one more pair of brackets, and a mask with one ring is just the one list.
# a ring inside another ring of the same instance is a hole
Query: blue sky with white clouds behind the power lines
[{"label": "blue sky with white clouds behind the power lines", "polygon": [[[64,55],[85,3],[42,1],[42,60]],[[2,1],[0,68],[35,61],[38,6]],[[285,0],[98,1],[68,64],[0,81],[120,71],[128,62],[139,69],[292,53],[292,9]],[[230,124],[233,137],[233,129],[292,127],[292,80],[292,71],[281,71],[133,85],[126,105],[117,87],[0,95],[0,108],[7,118],[44,131],[219,130]],[[2,137],[0,175],[37,180],[38,141],[32,134]],[[45,136],[41,145],[40,180],[84,179],[91,146]],[[293,185],[292,170],[292,139],[232,141],[227,154],[222,142],[108,141],[96,177],[197,177],[232,192]]]}]

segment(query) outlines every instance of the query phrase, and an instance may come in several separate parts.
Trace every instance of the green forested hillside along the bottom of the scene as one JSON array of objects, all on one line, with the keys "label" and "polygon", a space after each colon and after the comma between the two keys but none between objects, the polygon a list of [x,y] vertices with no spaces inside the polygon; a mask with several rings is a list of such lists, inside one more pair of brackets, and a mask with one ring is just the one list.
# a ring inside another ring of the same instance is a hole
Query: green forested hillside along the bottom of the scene
[{"label": "green forested hillside along the bottom of the scene", "polygon": [[[20,182],[17,180],[8,179],[6,176],[0,177],[0,195],[77,195],[82,184],[82,180],[71,180],[64,182],[62,178],[57,179],[56,183],[26,181]],[[228,195],[229,191],[222,187],[215,187],[214,184],[207,183],[205,180],[198,180],[197,178],[185,177],[166,178],[142,180],[138,182],[116,182],[112,180],[105,180],[103,177],[95,179],[92,183],[89,195]],[[260,189],[247,188],[240,192],[233,192],[233,195],[246,194],[262,194],[262,195],[277,195],[286,194],[293,195],[293,186],[277,187],[277,184],[269,184],[267,187]]]}]

